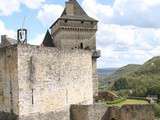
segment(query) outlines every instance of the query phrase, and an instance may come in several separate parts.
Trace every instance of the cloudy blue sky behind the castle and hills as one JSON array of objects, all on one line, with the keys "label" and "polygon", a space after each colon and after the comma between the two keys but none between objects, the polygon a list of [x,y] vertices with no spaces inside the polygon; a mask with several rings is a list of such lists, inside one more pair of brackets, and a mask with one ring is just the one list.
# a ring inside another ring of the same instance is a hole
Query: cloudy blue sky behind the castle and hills
[{"label": "cloudy blue sky behind the castle and hills", "polygon": [[[98,68],[142,64],[160,55],[160,0],[78,0],[99,21]],[[0,0],[0,35],[16,38],[28,30],[28,41],[38,45],[60,16],[65,0]]]}]

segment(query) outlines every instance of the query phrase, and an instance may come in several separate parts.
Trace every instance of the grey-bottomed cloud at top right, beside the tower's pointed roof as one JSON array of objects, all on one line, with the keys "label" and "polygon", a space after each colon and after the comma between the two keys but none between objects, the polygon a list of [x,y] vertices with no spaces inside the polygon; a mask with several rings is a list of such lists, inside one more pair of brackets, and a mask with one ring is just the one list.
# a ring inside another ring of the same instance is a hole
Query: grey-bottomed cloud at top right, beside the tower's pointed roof
[{"label": "grey-bottomed cloud at top right, beside the tower's pointed roof", "polygon": [[83,0],[86,11],[106,24],[160,27],[159,0],[115,0],[105,5],[98,0]]}]

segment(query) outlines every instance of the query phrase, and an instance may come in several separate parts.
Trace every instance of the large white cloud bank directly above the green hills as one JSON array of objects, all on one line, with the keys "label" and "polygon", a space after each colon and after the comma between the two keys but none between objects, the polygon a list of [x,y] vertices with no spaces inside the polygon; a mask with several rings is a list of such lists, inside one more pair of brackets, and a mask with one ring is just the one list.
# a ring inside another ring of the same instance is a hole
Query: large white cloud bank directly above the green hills
[{"label": "large white cloud bank directly above the green hills", "polygon": [[100,24],[97,49],[102,51],[98,67],[142,64],[160,55],[160,29]]}]

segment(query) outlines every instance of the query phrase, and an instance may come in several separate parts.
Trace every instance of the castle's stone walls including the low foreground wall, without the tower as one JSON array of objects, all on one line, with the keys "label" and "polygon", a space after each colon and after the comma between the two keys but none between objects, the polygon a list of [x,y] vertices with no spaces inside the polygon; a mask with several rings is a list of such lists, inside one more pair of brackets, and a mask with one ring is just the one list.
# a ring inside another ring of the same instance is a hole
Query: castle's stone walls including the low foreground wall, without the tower
[{"label": "castle's stone walls including the low foreground wall, without the tower", "polygon": [[0,120],[154,120],[150,105],[91,105],[89,51],[18,45],[0,56]]}]

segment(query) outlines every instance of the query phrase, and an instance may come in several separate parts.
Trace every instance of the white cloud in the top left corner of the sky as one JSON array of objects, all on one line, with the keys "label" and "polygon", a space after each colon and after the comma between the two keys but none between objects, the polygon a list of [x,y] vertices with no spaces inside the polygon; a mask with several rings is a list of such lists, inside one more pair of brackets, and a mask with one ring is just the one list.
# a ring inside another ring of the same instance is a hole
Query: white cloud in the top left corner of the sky
[{"label": "white cloud in the top left corner of the sky", "polygon": [[14,12],[19,12],[21,5],[30,9],[38,9],[45,0],[0,0],[0,15],[8,16]]}]

